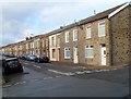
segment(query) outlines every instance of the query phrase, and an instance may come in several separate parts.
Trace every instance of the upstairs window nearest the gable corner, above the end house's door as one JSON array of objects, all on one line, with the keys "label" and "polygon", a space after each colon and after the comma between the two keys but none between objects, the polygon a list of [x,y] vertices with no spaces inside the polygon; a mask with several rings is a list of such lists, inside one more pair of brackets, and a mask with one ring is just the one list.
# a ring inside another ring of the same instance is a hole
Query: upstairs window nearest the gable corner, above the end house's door
[{"label": "upstairs window nearest the gable corner, above the end house's door", "polygon": [[106,35],[105,21],[98,23],[98,37]]}]

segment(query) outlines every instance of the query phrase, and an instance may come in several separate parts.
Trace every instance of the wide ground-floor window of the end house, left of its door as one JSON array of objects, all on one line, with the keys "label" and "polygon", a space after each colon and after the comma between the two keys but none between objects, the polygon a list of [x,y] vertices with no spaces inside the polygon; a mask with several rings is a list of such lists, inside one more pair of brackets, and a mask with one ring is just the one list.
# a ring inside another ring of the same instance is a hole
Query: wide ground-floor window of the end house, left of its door
[{"label": "wide ground-floor window of the end house, left of its door", "polygon": [[94,58],[93,46],[85,46],[85,58]]}]

